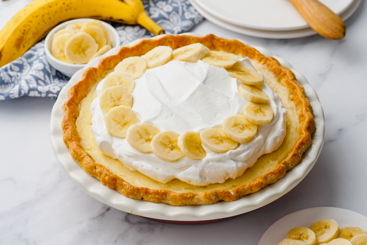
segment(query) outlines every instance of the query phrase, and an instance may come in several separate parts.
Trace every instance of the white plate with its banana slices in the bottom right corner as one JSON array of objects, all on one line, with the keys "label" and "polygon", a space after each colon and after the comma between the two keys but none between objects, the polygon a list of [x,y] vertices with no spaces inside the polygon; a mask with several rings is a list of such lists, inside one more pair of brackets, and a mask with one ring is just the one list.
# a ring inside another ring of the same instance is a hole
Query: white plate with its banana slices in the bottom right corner
[{"label": "white plate with its banana slices in the bottom right corner", "polygon": [[258,245],[319,244],[367,244],[367,217],[341,208],[299,210],[272,224]]}]

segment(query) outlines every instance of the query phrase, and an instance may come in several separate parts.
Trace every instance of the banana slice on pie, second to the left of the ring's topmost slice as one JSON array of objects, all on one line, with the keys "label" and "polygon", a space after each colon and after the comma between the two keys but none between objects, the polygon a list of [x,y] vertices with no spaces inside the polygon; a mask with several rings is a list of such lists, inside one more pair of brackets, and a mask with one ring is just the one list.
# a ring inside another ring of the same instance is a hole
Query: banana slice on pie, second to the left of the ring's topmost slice
[{"label": "banana slice on pie, second to the left of the ring's topmost slice", "polygon": [[123,59],[115,67],[115,72],[127,72],[132,75],[134,79],[139,78],[146,71],[146,61],[139,56],[133,56]]}]

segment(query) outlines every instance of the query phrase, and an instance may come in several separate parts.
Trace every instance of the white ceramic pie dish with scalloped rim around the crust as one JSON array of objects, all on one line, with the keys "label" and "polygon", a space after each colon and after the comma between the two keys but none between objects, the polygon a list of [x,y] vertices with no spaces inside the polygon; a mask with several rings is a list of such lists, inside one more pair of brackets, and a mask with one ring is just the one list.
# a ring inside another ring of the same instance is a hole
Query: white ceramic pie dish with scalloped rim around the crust
[{"label": "white ceramic pie dish with scalloped rim around the crust", "polygon": [[[183,33],[192,36],[201,36],[195,33]],[[182,35],[183,35],[182,34]],[[163,35],[153,37],[160,38]],[[131,42],[130,46],[137,44],[142,39]],[[179,221],[199,221],[199,220],[214,220],[226,217],[240,215],[251,210],[260,208],[270,202],[280,198],[292,188],[294,188],[302,179],[310,172],[317,158],[319,157],[323,142],[324,142],[324,114],[319,98],[315,90],[312,89],[305,77],[296,71],[287,61],[277,57],[262,47],[252,46],[251,44],[239,40],[240,42],[256,48],[266,56],[276,58],[280,64],[286,66],[294,72],[298,82],[305,88],[306,96],[308,97],[315,116],[316,132],[312,135],[312,145],[304,153],[301,163],[292,168],[287,174],[277,181],[275,184],[262,188],[260,191],[247,195],[233,202],[218,202],[209,205],[201,206],[170,206],[162,203],[146,202],[142,200],[125,197],[119,192],[106,187],[88,173],[74,161],[70,155],[69,149],[62,140],[61,121],[63,118],[62,105],[68,99],[68,90],[79,80],[85,69],[92,66],[97,66],[99,60],[109,55],[118,53],[120,47],[116,47],[102,55],[98,59],[92,60],[83,69],[76,72],[70,79],[69,83],[60,91],[59,97],[54,104],[51,112],[50,122],[50,137],[51,144],[55,156],[66,174],[84,191],[99,201],[120,209],[124,212],[133,213],[136,215],[149,217],[161,220],[179,220]]]}]

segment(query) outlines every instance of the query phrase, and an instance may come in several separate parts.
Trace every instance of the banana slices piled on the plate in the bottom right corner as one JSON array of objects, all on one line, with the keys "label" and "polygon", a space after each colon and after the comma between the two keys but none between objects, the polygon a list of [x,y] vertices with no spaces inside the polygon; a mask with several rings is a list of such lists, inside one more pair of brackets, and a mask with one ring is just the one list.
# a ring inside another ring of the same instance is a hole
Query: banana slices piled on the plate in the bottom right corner
[{"label": "banana slices piled on the plate in the bottom right corner", "polygon": [[278,245],[366,245],[367,232],[359,227],[339,229],[338,222],[324,219],[310,227],[296,227],[287,233],[287,238]]}]

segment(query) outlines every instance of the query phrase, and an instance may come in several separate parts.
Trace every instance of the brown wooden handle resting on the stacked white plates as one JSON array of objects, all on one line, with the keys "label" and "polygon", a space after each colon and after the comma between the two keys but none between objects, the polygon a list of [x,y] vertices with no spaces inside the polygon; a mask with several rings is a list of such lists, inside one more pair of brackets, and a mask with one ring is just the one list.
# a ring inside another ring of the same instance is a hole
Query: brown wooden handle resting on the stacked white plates
[{"label": "brown wooden handle resting on the stacked white plates", "polygon": [[342,19],[317,0],[289,0],[305,21],[323,37],[334,40],[345,37]]}]

